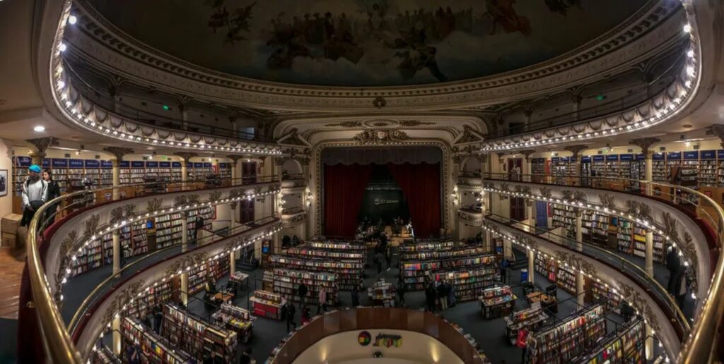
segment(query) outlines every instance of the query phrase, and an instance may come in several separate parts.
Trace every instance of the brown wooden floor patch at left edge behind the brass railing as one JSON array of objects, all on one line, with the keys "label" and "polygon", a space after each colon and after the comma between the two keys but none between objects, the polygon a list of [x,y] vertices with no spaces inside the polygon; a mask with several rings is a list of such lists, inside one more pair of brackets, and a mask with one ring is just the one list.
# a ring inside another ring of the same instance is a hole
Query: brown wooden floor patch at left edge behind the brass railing
[{"label": "brown wooden floor patch at left edge behind the brass railing", "polygon": [[0,318],[17,319],[25,249],[0,249]]}]

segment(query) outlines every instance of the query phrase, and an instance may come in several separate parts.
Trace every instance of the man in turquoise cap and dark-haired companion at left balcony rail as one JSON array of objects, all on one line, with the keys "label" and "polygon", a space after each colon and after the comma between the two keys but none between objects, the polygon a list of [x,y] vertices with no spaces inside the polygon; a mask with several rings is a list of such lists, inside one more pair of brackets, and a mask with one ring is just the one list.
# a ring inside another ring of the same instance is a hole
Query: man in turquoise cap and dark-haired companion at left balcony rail
[{"label": "man in turquoise cap and dark-haired companion at left balcony rail", "polygon": [[[31,165],[28,168],[28,179],[22,183],[21,205],[22,219],[20,226],[30,225],[35,212],[38,211],[46,202],[56,199],[60,196],[60,186],[53,181],[53,174],[49,171],[43,171],[39,165]],[[46,209],[41,220],[41,226],[49,226],[55,221],[60,206],[54,203],[53,206]]]}]

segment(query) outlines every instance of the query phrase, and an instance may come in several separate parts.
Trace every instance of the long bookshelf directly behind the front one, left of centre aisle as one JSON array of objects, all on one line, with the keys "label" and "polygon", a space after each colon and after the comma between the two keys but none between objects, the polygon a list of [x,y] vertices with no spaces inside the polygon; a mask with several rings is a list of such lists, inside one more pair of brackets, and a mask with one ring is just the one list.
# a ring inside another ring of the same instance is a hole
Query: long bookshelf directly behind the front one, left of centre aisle
[{"label": "long bookshelf directly behind the front one, left of centre aisle", "polygon": [[360,259],[320,259],[295,256],[269,256],[269,264],[275,268],[300,269],[309,272],[329,272],[337,275],[340,290],[356,290],[362,284],[364,263]]}]

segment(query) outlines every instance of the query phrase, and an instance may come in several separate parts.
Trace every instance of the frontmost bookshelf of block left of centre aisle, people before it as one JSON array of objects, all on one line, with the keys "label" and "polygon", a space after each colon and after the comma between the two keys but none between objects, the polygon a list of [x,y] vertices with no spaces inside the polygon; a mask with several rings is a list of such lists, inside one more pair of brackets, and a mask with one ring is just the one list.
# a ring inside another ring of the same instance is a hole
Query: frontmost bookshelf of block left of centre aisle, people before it
[{"label": "frontmost bookshelf of block left of centre aisle, people before it", "polygon": [[264,283],[271,285],[274,293],[295,303],[302,303],[297,295],[297,289],[302,282],[308,289],[306,303],[316,303],[319,290],[324,287],[327,290],[327,303],[332,306],[337,304],[337,274],[280,268],[264,271]]}]

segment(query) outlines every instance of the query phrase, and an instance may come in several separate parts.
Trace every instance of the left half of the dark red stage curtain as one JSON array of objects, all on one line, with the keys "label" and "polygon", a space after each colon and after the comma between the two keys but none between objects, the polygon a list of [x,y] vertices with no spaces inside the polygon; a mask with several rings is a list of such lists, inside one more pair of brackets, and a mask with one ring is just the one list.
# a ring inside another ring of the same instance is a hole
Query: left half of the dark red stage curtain
[{"label": "left half of the dark red stage curtain", "polygon": [[324,166],[324,235],[353,237],[372,165]]}]

